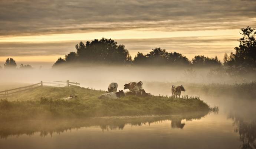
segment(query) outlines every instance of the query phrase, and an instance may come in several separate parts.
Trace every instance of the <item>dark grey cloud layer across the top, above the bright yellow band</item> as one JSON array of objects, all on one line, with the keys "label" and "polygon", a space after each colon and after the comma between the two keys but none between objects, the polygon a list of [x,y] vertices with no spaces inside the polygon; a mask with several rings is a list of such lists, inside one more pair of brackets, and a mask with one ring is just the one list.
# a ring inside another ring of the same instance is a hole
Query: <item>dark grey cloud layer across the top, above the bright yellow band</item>
[{"label": "dark grey cloud layer across the top, above the bright yellow band", "polygon": [[256,24],[256,1],[0,0],[0,36],[145,30],[216,30]]}]

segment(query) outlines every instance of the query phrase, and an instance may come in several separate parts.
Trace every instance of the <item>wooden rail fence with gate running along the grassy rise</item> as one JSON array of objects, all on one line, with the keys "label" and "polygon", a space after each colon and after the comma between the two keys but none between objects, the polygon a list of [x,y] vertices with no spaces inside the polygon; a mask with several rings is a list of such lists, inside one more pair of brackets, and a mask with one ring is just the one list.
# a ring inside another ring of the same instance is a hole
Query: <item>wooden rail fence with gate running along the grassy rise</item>
[{"label": "wooden rail fence with gate running along the grassy rise", "polygon": [[6,89],[4,91],[0,91],[0,97],[7,97],[12,94],[22,92],[22,91],[27,91],[43,86],[50,86],[50,87],[70,87],[70,86],[77,86],[80,85],[80,83],[77,82],[70,82],[69,80],[67,81],[53,81],[53,82],[39,82],[36,84],[28,85],[26,87],[19,87],[19,88],[13,88],[13,89]]}]

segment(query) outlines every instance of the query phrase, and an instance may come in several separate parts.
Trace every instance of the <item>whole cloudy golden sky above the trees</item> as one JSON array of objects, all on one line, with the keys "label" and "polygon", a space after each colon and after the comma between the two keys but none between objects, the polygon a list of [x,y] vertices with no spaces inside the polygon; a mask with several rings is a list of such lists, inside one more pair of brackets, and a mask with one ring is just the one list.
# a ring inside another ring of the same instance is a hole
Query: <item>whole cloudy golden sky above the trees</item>
[{"label": "whole cloudy golden sky above the trees", "polygon": [[256,0],[0,0],[0,65],[53,64],[80,41],[111,38],[132,57],[155,47],[220,60],[240,28],[256,27]]}]

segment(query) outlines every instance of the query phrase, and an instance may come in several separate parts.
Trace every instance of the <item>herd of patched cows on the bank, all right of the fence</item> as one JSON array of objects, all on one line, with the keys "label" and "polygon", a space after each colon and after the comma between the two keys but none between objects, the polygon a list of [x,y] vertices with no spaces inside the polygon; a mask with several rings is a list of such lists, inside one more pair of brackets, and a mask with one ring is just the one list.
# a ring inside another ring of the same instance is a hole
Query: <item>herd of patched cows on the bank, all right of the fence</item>
[{"label": "herd of patched cows on the bank, all right of the fence", "polygon": [[[140,96],[140,97],[147,97],[147,96],[152,96],[150,93],[145,92],[144,89],[142,89],[142,82],[130,82],[128,84],[124,85],[124,89],[129,89],[128,92],[124,92],[123,90],[117,91],[118,84],[117,83],[111,83],[108,85],[108,92],[105,94],[102,94],[99,96],[99,99],[118,99],[123,96],[128,96],[128,95],[135,95],[135,96]],[[179,96],[181,91],[186,91],[183,85],[175,87],[172,85],[171,87],[171,93],[173,97]]]}]

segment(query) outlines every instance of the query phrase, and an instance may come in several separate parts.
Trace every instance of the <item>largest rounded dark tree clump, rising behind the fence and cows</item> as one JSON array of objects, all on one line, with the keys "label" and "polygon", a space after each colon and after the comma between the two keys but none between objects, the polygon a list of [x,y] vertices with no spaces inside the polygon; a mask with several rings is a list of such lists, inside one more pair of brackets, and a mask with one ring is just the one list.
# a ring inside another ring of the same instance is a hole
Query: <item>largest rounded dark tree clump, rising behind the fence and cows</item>
[{"label": "largest rounded dark tree clump, rising behind the fence and cows", "polygon": [[54,66],[70,62],[96,63],[96,64],[129,64],[132,59],[124,45],[118,45],[112,39],[81,41],[75,46],[76,52],[65,55],[65,60],[59,58]]}]

